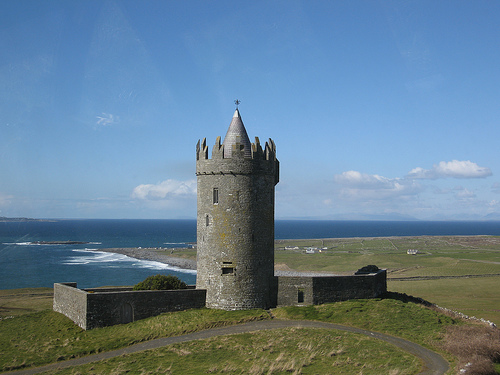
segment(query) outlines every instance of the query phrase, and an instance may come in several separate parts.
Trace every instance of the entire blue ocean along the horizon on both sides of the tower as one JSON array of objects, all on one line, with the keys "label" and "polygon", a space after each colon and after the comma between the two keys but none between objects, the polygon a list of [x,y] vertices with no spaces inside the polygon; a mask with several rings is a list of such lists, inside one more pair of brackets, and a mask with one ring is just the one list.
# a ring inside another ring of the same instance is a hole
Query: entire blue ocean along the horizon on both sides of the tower
[{"label": "entire blue ocean along the horizon on both sides of the tower", "polygon": [[[500,235],[500,222],[277,220],[276,239],[421,235]],[[47,244],[78,241],[85,244]],[[185,247],[195,220],[57,220],[0,222],[0,289],[134,285],[158,273],[196,282],[196,272],[99,249]]]}]

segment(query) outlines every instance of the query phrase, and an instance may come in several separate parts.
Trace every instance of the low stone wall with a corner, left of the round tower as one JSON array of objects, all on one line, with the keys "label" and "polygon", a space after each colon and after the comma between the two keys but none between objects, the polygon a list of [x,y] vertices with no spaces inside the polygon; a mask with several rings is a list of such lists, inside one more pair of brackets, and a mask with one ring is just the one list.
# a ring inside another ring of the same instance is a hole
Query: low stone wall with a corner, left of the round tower
[{"label": "low stone wall with a corner, left of the round tower", "polygon": [[54,284],[54,311],[83,329],[130,323],[171,311],[205,307],[206,290],[78,289],[76,283]]}]

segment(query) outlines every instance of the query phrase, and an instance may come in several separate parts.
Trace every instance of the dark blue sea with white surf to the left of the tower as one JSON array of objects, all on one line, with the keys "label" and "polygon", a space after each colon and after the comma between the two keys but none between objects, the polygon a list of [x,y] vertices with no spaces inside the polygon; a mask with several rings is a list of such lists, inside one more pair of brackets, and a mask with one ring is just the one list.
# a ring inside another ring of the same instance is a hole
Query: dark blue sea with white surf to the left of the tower
[{"label": "dark blue sea with white surf to the left of the tower", "polygon": [[[37,244],[80,241],[85,244]],[[194,220],[58,220],[0,223],[0,289],[134,285],[155,274],[188,284],[196,271],[99,251],[119,247],[186,247],[196,241]]]}]

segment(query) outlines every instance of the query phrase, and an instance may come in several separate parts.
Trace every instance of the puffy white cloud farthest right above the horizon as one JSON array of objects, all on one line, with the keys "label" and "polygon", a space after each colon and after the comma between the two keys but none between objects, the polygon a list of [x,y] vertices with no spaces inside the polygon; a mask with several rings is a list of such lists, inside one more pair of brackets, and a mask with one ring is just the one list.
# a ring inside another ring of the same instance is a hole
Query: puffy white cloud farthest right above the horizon
[{"label": "puffy white cloud farthest right above the horizon", "polygon": [[438,178],[485,178],[491,176],[490,168],[480,167],[470,160],[452,160],[449,162],[441,161],[434,164],[432,169],[414,168],[408,173],[409,178],[431,179]]}]

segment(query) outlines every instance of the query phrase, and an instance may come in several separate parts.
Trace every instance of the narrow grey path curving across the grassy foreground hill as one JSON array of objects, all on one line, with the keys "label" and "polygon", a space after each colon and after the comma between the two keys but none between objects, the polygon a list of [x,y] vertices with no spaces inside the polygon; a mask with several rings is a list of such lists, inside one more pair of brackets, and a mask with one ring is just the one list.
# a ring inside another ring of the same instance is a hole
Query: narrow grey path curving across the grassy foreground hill
[{"label": "narrow grey path curving across the grassy foreground hill", "polygon": [[238,333],[246,333],[252,331],[262,331],[267,329],[279,329],[279,328],[288,328],[288,327],[309,327],[309,328],[326,328],[326,329],[337,329],[340,331],[347,331],[352,333],[359,333],[362,335],[367,335],[379,340],[386,341],[390,344],[393,344],[410,354],[420,358],[423,363],[421,375],[440,375],[444,374],[448,371],[448,362],[444,360],[439,354],[434,353],[433,351],[426,349],[420,345],[414,344],[410,341],[403,340],[398,337],[386,335],[383,333],[366,331],[360,328],[347,327],[339,324],[333,323],[324,323],[317,321],[309,321],[309,320],[260,320],[245,324],[239,324],[235,326],[229,327],[220,327],[207,329],[200,332],[189,333],[187,335],[175,336],[175,337],[165,337],[161,339],[146,341],[140,344],[132,345],[126,348],[113,350],[110,352],[99,353],[90,355],[87,357],[76,358],[69,361],[52,363],[50,365],[36,367],[21,371],[9,372],[8,374],[37,374],[43,371],[54,371],[63,369],[66,367],[83,365],[87,363],[92,363],[96,361],[101,361],[103,359],[117,357],[123,354],[131,354],[137,353],[143,350],[148,349],[157,349],[161,348],[165,345],[192,341],[192,340],[201,340],[214,336],[222,336],[222,335],[233,335]]}]

